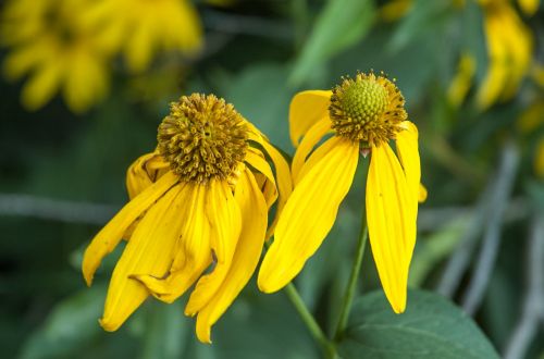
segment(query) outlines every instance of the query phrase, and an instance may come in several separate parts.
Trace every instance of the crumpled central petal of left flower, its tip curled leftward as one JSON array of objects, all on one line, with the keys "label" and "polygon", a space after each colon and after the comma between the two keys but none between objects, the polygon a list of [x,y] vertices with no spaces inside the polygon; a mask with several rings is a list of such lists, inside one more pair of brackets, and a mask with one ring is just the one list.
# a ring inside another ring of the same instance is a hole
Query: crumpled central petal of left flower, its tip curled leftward
[{"label": "crumpled central petal of left flower, its tip curled leftward", "polygon": [[206,185],[187,184],[181,198],[187,208],[180,215],[183,223],[175,246],[175,258],[165,277],[135,275],[151,294],[164,302],[173,302],[195,283],[212,261],[211,224],[206,215]]}]

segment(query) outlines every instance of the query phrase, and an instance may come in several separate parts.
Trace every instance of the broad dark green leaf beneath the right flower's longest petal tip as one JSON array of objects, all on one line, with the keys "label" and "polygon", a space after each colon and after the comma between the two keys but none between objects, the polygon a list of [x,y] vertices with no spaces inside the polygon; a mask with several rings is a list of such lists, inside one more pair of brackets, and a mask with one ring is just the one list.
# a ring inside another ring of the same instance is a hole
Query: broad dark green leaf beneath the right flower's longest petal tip
[{"label": "broad dark green leaf beneath the right flower's longest petal tip", "polygon": [[498,358],[471,318],[445,298],[409,290],[407,310],[395,314],[382,292],[356,301],[339,347],[342,358]]}]

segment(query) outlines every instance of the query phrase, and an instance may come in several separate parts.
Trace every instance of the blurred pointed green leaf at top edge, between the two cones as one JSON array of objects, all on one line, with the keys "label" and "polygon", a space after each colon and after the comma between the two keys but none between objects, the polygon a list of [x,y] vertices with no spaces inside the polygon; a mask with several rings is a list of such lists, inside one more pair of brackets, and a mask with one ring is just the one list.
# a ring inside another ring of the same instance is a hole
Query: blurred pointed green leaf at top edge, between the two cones
[{"label": "blurred pointed green leaf at top edge, between the two cones", "polygon": [[289,83],[300,85],[330,58],[362,39],[373,20],[373,1],[330,0],[295,61]]}]

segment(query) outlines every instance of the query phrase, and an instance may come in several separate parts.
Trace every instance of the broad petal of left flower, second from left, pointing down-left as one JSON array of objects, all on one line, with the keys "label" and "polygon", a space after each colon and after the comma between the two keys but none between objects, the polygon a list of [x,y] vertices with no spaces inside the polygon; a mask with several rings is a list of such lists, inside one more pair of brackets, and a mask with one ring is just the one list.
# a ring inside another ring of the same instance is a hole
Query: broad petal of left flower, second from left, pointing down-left
[{"label": "broad petal of left flower, second from left, pointing down-left", "polygon": [[108,287],[100,324],[115,331],[149,296],[147,288],[133,275],[164,276],[174,257],[180,237],[180,213],[186,203],[180,200],[183,184],[174,186],[147,211],[121,256]]}]

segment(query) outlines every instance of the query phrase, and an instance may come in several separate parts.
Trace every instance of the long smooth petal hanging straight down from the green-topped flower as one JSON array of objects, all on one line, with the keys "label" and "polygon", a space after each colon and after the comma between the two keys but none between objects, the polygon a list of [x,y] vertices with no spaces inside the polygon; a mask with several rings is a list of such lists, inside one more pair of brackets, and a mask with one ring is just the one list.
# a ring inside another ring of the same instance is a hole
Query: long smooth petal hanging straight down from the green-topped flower
[{"label": "long smooth petal hanging straight down from the green-topped flower", "polygon": [[367,222],[372,255],[393,310],[406,308],[408,268],[416,244],[416,214],[405,173],[387,144],[372,147]]}]

